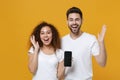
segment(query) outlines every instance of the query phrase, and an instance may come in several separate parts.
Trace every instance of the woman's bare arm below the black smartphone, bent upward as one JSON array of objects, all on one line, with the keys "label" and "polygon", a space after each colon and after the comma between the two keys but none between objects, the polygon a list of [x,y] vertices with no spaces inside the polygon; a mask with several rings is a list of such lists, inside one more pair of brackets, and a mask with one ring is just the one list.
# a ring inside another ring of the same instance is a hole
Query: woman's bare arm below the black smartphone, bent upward
[{"label": "woman's bare arm below the black smartphone, bent upward", "polygon": [[65,71],[64,61],[62,61],[62,62],[60,62],[58,64],[58,73],[57,73],[58,80],[63,80],[63,78],[64,78],[64,71]]}]

